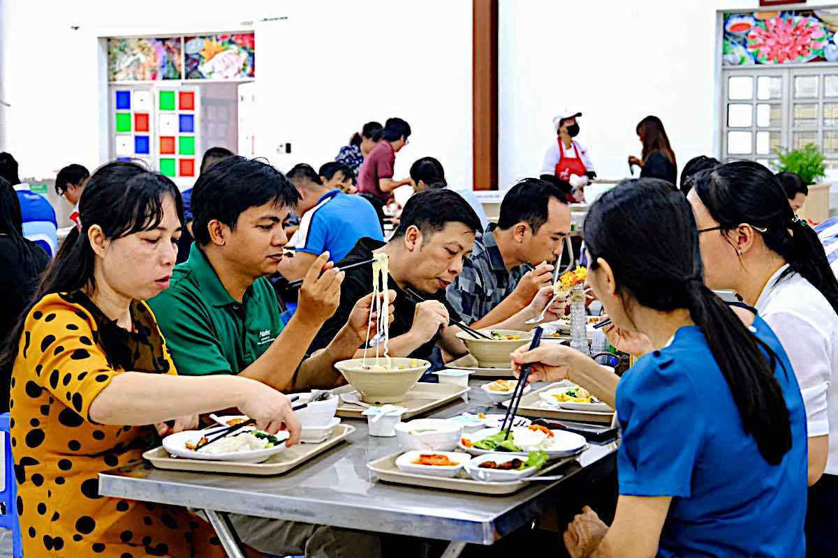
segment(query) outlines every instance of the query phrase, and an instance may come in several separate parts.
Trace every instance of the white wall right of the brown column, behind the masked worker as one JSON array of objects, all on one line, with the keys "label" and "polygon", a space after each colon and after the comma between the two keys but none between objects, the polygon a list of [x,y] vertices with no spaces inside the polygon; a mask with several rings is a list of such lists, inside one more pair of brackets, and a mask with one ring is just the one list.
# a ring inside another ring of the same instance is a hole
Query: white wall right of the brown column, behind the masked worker
[{"label": "white wall right of the brown column, behind the masked worker", "polygon": [[501,187],[541,170],[561,107],[582,112],[578,139],[600,178],[629,176],[635,126],[650,114],[664,121],[679,172],[716,155],[716,10],[738,8],[759,9],[756,0],[500,0]]}]

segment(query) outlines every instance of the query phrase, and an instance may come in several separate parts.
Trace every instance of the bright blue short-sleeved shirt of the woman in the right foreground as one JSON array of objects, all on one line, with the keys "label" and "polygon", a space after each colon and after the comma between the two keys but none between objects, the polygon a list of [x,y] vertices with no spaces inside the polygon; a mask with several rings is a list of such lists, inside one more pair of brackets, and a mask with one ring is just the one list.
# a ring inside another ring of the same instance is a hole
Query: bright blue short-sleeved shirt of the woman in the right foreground
[{"label": "bright blue short-sleeved shirt of the woman in the right foreground", "polygon": [[672,497],[660,556],[805,554],[803,399],[771,328],[760,318],[752,328],[782,362],[774,377],[789,408],[793,444],[778,465],[769,465],[742,429],[727,381],[698,327],[681,327],[670,346],[639,359],[619,383],[620,494]]}]

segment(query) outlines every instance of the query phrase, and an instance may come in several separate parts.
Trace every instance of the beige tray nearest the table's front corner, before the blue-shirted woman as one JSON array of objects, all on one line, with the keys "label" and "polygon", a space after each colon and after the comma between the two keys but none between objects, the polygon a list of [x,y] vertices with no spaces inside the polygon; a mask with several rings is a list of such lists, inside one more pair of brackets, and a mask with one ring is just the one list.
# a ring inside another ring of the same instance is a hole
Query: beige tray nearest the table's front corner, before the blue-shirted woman
[{"label": "beige tray nearest the table's front corner, before the blue-shirted woman", "polygon": [[[505,496],[507,494],[513,494],[531,484],[522,480],[494,483],[483,480],[474,480],[468,473],[466,473],[465,469],[460,470],[458,476],[453,479],[432,477],[428,474],[402,473],[399,468],[396,467],[396,458],[398,458],[402,453],[404,452],[393,453],[387,457],[370,461],[370,463],[367,463],[367,468],[369,468],[379,480],[384,481],[385,483],[407,484],[413,487],[421,486],[426,489],[454,490],[456,492],[470,492],[473,494],[483,494],[489,496]],[[580,454],[577,453],[576,455],[572,455],[570,457],[557,459],[556,461],[549,463],[545,468],[542,468],[541,471],[533,476],[537,477],[542,474],[551,473],[551,471],[561,467],[561,465],[575,460],[579,457],[579,455]]]}]

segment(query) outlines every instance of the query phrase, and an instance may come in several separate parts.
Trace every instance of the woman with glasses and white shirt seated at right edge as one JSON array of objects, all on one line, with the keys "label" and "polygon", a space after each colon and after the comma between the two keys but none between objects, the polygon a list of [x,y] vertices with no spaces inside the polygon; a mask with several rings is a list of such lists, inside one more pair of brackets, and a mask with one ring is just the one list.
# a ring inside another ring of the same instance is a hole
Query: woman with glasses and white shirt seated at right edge
[{"label": "woman with glasses and white shirt seated at right edge", "polygon": [[809,443],[809,555],[838,555],[838,280],[771,171],[737,161],[693,177],[705,282],[756,307],[789,356]]}]

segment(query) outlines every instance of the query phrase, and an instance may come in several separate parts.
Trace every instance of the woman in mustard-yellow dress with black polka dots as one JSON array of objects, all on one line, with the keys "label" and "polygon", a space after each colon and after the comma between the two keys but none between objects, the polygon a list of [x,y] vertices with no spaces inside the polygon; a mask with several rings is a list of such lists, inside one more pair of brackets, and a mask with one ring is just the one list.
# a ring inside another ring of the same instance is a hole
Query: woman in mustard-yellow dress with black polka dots
[{"label": "woman in mustard-yellow dress with black polka dots", "polygon": [[109,163],[87,182],[79,209],[80,231],[65,240],[3,355],[14,365],[23,553],[223,556],[187,509],[103,498],[98,474],[140,460],[147,438],[194,427],[199,413],[239,407],[270,433],[285,422],[288,443],[299,422],[288,398],[259,381],[177,375],[144,302],[168,288],[178,253],[184,210],[171,180]]}]

